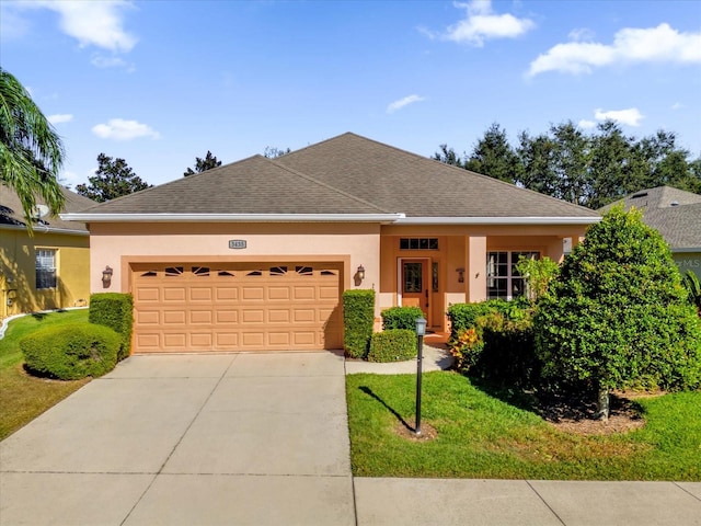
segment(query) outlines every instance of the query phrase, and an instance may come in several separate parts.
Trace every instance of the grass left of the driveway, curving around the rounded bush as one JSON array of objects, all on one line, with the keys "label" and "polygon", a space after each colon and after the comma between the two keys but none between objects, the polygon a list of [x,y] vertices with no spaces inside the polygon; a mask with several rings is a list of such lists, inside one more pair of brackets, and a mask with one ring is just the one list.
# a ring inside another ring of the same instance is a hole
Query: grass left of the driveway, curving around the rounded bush
[{"label": "grass left of the driveway, curving around the rounded bush", "polygon": [[88,322],[88,309],[30,315],[10,322],[0,340],[0,441],[90,381],[33,377],[24,370],[20,350],[20,340],[37,329],[81,321]]}]

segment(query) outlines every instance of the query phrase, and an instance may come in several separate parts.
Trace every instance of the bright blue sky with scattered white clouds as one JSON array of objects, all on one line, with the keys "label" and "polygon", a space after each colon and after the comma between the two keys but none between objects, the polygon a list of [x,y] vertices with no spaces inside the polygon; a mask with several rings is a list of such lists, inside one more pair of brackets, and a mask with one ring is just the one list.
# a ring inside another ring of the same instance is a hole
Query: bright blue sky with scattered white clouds
[{"label": "bright blue sky with scattered white clouds", "polygon": [[607,117],[701,155],[701,2],[9,1],[0,64],[87,182],[104,152],[151,184],[345,132],[432,156]]}]

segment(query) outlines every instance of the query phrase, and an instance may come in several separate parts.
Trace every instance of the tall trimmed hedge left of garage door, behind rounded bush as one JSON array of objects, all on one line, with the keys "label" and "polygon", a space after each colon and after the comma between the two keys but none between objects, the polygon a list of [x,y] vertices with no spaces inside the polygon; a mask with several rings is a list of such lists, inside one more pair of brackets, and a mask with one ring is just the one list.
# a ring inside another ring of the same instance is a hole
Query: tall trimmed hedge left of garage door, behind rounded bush
[{"label": "tall trimmed hedge left of garage door, behind rounded bush", "polygon": [[108,327],[122,335],[117,362],[131,354],[134,298],[130,294],[99,293],[91,295],[88,321]]}]

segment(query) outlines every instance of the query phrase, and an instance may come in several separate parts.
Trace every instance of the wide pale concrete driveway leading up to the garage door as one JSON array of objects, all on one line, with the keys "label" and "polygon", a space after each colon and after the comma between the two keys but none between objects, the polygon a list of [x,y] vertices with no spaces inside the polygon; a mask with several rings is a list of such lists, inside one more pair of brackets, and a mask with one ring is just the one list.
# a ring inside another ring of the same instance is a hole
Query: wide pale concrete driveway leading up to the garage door
[{"label": "wide pale concrete driveway leading up to the garage door", "polygon": [[2,525],[354,525],[344,361],[133,356],[0,444]]}]

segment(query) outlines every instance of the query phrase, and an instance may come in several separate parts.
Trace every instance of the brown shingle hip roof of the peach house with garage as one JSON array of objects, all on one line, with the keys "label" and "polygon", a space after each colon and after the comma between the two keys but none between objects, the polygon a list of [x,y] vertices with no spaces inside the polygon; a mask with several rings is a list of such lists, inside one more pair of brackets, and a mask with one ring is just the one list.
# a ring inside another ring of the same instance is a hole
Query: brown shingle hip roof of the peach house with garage
[{"label": "brown shingle hip roof of the peach house with garage", "polygon": [[276,159],[254,156],[84,213],[93,220],[188,214],[599,218],[594,210],[352,133]]}]

